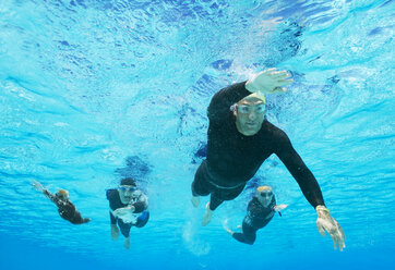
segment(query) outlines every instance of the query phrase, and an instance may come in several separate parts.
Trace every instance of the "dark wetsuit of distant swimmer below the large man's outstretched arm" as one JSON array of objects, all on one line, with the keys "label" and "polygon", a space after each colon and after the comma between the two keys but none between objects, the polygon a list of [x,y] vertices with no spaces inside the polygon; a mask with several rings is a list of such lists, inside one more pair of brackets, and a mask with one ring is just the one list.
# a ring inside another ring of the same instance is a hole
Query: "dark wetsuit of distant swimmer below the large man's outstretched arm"
[{"label": "dark wetsuit of distant swimmer below the large man's outstretched arm", "polygon": [[234,238],[241,243],[254,244],[256,231],[267,225],[273,219],[275,206],[276,199],[274,196],[267,207],[264,207],[256,197],[253,197],[249,202],[247,216],[242,221],[242,233],[234,233]]}]

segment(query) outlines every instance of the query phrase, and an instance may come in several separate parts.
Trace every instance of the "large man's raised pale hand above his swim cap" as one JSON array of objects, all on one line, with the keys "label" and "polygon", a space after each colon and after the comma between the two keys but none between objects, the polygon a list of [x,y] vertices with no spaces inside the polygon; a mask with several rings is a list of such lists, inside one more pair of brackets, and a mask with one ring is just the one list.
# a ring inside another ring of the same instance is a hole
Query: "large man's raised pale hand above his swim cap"
[{"label": "large man's raised pale hand above his swim cap", "polygon": [[246,89],[251,93],[262,91],[263,94],[285,93],[287,86],[294,81],[287,71],[268,69],[255,74],[246,83]]}]

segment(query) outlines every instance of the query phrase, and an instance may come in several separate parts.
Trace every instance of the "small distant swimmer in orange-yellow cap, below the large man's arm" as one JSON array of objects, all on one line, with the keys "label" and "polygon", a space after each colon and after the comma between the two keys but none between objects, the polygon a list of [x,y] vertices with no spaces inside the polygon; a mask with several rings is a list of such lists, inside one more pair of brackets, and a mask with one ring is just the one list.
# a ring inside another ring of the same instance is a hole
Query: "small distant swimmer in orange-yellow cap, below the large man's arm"
[{"label": "small distant swimmer in orange-yellow cap, below the large man's arm", "polygon": [[274,213],[285,209],[287,205],[276,205],[272,187],[260,186],[255,196],[250,200],[247,208],[247,216],[242,221],[242,233],[232,232],[225,229],[235,240],[253,245],[256,238],[256,231],[267,225]]}]

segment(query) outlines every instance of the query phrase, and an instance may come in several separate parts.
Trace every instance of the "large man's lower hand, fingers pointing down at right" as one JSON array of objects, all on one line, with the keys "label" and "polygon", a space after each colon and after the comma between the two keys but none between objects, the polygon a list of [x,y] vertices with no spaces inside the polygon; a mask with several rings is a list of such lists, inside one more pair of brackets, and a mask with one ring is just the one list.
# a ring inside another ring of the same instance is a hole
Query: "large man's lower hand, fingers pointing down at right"
[{"label": "large man's lower hand, fingers pointing down at right", "polygon": [[331,235],[333,240],[334,248],[338,246],[338,249],[343,251],[343,248],[346,247],[345,240],[346,235],[337,221],[332,218],[330,210],[326,209],[324,206],[318,206],[315,208],[318,219],[316,219],[316,226],[319,232],[322,236],[325,236],[325,231]]}]

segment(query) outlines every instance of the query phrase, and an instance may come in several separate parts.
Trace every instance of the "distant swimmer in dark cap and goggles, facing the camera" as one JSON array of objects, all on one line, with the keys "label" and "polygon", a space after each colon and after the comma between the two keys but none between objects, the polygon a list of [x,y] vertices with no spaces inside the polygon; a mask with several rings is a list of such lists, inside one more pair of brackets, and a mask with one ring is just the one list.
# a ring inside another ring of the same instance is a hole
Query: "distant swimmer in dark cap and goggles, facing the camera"
[{"label": "distant swimmer in dark cap and goggles, facing the camera", "polygon": [[148,222],[148,197],[136,187],[135,181],[131,177],[122,179],[119,187],[107,189],[106,195],[110,205],[111,238],[118,240],[121,229],[125,237],[124,247],[129,249],[130,229],[142,228]]}]

